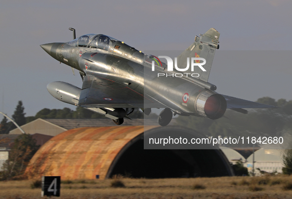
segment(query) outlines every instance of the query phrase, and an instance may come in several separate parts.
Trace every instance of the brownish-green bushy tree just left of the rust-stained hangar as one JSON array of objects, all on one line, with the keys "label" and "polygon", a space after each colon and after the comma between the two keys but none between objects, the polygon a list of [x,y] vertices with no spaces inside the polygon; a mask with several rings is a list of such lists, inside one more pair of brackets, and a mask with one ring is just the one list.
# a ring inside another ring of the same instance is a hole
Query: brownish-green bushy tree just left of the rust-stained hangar
[{"label": "brownish-green bushy tree just left of the rust-stained hangar", "polygon": [[27,164],[40,146],[30,134],[19,135],[13,143],[8,159],[2,166],[0,180],[10,180],[14,176],[22,175]]}]

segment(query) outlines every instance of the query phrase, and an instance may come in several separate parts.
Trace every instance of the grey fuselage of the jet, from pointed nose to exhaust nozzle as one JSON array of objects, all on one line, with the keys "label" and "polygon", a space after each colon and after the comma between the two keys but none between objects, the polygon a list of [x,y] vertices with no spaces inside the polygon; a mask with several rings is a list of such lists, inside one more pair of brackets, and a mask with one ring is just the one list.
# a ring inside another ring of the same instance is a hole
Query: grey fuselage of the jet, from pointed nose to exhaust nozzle
[{"label": "grey fuselage of the jet, from pointed nose to exhaust nozzle", "polygon": [[153,71],[151,55],[111,37],[89,34],[70,42],[41,46],[83,76],[112,80],[139,93],[144,103],[134,108],[170,108],[175,114],[210,119],[218,119],[225,113],[226,101],[210,89],[212,84],[191,77],[175,77],[177,71],[167,71],[163,62],[155,62]]}]

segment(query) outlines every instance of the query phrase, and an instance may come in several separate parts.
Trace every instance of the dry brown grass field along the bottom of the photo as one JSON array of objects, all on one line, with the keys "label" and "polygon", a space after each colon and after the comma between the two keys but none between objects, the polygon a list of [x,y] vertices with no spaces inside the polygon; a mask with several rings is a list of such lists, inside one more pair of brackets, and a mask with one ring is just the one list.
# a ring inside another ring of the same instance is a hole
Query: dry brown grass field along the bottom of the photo
[{"label": "dry brown grass field along the bottom of the photo", "polygon": [[[0,182],[0,199],[39,199],[34,181]],[[123,187],[124,186],[124,187]],[[46,197],[43,197],[46,198]],[[292,177],[62,181],[61,199],[292,199]]]}]

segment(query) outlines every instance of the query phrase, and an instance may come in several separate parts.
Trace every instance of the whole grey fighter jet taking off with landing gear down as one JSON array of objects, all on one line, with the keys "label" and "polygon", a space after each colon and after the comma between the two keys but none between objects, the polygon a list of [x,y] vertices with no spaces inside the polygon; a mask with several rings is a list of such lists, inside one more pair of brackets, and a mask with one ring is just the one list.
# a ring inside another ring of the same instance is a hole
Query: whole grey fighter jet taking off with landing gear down
[{"label": "whole grey fighter jet taking off with landing gear down", "polygon": [[[220,34],[209,29],[173,63],[167,56],[146,55],[125,42],[102,34],[88,34],[65,43],[41,47],[50,56],[77,69],[82,88],[62,81],[47,85],[56,99],[101,114],[120,125],[135,108],[149,115],[151,108],[164,109],[158,123],[166,126],[172,116],[221,118],[226,109],[243,114],[243,108],[272,108],[215,92],[208,82]],[[166,58],[167,64],[160,59]],[[173,67],[174,65],[174,67]],[[75,75],[75,74],[74,74]]]}]

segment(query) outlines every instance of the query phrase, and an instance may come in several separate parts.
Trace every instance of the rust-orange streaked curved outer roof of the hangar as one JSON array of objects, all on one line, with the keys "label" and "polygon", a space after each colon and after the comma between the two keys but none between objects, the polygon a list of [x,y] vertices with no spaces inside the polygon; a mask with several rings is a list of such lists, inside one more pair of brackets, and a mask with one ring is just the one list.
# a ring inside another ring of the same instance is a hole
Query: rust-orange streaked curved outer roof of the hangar
[{"label": "rust-orange streaked curved outer roof of the hangar", "polygon": [[31,159],[29,178],[43,175],[66,179],[105,179],[113,160],[133,138],[156,126],[83,127],[65,131],[49,141]]}]

